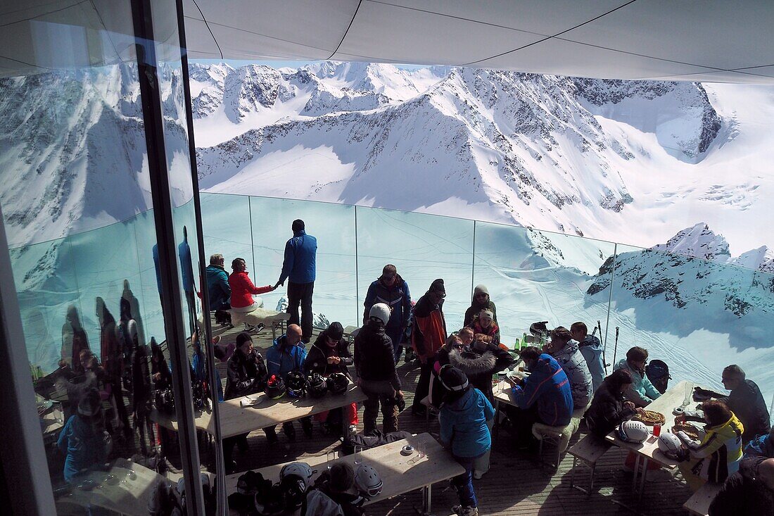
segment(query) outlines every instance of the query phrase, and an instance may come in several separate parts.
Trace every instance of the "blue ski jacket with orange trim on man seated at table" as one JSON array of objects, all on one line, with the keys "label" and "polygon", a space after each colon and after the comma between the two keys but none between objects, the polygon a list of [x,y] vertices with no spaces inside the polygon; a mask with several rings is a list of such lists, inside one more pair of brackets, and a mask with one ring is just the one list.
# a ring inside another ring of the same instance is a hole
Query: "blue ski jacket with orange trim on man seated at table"
[{"label": "blue ski jacket with orange trim on man seated at table", "polygon": [[512,400],[522,409],[537,404],[540,421],[550,426],[563,426],[570,422],[573,414],[573,396],[570,379],[553,358],[542,353],[529,370],[522,385],[511,390]]}]

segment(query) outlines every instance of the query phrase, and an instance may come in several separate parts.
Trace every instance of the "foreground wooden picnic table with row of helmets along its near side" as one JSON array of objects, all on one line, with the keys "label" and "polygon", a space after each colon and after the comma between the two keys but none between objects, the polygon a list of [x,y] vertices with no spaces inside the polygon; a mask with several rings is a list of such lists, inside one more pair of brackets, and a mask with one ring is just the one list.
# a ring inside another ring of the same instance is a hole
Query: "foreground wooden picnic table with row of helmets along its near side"
[{"label": "foreground wooden picnic table with row of helmets along its near side", "polygon": [[[400,452],[403,446],[413,445],[415,451],[409,455],[402,455]],[[420,459],[420,452],[424,452],[425,456]],[[382,478],[384,486],[382,487],[382,493],[378,497],[372,500],[366,501],[365,505],[375,504],[378,501],[385,500],[387,498],[396,497],[399,494],[407,493],[415,489],[423,489],[423,511],[428,513],[432,504],[432,487],[433,483],[442,482],[448,480],[453,476],[461,475],[465,472],[464,468],[454,460],[450,452],[447,452],[439,442],[433,439],[433,436],[427,433],[413,435],[408,439],[401,439],[400,441],[390,442],[376,448],[367,449],[361,452],[363,463],[370,464],[379,473]],[[336,461],[347,462],[353,468],[355,456],[348,455],[339,457]],[[302,461],[290,461],[305,462],[309,464],[315,473],[313,480],[327,468],[327,457],[320,455],[316,457],[307,457]],[[289,463],[275,464],[274,466],[266,466],[260,470],[255,470],[257,473],[261,473],[264,478],[272,480],[273,482],[279,481],[279,471],[283,469],[283,466]],[[226,476],[225,487],[226,494],[232,494],[236,492],[237,480],[243,473]],[[235,513],[233,513],[235,514]]]}]

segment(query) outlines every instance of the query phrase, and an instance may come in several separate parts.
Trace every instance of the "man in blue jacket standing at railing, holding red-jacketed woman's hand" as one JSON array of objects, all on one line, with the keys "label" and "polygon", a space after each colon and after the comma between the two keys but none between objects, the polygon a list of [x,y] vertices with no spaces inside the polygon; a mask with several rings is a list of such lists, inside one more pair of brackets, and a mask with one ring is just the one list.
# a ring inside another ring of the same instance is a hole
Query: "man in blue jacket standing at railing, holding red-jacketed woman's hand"
[{"label": "man in blue jacket standing at railing, holding red-jacketed woman's hand", "polygon": [[307,235],[306,225],[297,218],[291,226],[293,238],[285,244],[285,260],[283,271],[274,288],[285,284],[288,280],[288,308],[290,315],[288,324],[299,324],[298,307],[301,306],[300,324],[303,329],[302,339],[309,343],[312,339],[312,293],[317,266],[317,239]]}]

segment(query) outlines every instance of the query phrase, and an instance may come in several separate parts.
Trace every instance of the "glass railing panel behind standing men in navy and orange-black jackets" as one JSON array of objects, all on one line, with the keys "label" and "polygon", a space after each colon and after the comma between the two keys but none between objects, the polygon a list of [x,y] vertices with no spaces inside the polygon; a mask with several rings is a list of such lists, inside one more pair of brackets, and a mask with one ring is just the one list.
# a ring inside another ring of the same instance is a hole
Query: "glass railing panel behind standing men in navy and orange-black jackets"
[{"label": "glass railing panel behind standing men in navy and orange-black jackets", "polygon": [[473,273],[471,220],[358,206],[358,324],[368,286],[392,263],[419,300],[437,278],[444,280],[447,332],[462,326]]}]

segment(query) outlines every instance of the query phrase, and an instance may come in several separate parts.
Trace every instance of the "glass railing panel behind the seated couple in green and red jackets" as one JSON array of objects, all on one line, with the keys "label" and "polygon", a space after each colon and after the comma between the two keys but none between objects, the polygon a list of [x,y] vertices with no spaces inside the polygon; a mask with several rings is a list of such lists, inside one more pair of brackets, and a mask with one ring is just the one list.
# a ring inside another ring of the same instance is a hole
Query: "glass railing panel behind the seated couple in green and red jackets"
[{"label": "glass railing panel behind the seated couple in green and red jackets", "polygon": [[[199,194],[204,229],[204,256],[224,257],[224,268],[231,273],[231,260],[243,258],[248,270],[255,270],[250,231],[250,198],[247,195]],[[251,274],[252,276],[252,274]]]}]

